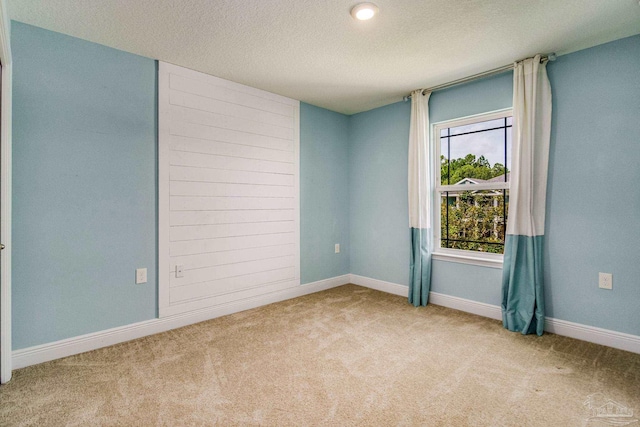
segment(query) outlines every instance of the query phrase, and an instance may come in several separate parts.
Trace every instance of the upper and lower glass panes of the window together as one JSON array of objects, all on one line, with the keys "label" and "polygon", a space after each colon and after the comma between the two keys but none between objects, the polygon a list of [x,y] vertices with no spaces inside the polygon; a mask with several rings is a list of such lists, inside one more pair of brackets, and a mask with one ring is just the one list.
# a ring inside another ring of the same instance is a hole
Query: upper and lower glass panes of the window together
[{"label": "upper and lower glass panes of the window together", "polygon": [[[503,117],[441,129],[441,184],[508,182],[511,123]],[[503,189],[443,192],[441,247],[503,253],[508,199]]]}]

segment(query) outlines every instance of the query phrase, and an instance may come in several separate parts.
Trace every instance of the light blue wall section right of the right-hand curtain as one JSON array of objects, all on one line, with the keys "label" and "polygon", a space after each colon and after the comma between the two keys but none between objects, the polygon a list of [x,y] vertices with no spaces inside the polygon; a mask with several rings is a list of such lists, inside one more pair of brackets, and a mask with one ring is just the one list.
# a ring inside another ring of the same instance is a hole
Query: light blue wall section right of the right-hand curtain
[{"label": "light blue wall section right of the right-hand curtain", "polygon": [[[640,335],[640,36],[548,67],[550,316]],[[613,273],[613,290],[598,288]]]}]

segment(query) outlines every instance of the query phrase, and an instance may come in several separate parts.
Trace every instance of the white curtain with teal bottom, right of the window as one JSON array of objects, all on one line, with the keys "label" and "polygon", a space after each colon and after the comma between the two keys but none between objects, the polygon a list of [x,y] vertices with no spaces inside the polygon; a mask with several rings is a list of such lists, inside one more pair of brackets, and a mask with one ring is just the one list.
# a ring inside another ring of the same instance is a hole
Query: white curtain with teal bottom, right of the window
[{"label": "white curtain with teal bottom, right of the window", "polygon": [[502,322],[544,331],[543,246],[551,134],[551,85],[540,55],[513,70],[513,156],[502,271]]}]

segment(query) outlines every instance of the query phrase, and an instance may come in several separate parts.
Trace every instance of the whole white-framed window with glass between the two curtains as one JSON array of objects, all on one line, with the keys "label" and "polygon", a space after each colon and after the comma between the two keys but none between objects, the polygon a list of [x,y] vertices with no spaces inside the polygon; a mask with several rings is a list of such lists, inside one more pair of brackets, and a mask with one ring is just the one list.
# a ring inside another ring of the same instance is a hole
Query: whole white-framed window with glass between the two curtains
[{"label": "whole white-framed window with glass between the two curtains", "polygon": [[501,261],[511,128],[511,110],[434,125],[436,253]]}]

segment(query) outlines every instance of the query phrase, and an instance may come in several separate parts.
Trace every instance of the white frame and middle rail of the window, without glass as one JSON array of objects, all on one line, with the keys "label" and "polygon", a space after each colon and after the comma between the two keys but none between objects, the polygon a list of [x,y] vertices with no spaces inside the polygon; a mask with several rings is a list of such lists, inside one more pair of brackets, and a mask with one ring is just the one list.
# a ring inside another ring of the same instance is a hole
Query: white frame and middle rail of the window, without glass
[{"label": "white frame and middle rail of the window, without glass", "polygon": [[[443,191],[461,191],[461,190],[496,190],[506,189],[509,190],[510,182],[497,183],[497,184],[463,184],[456,185],[441,185],[440,184],[440,132],[442,129],[465,126],[478,122],[485,122],[489,120],[496,120],[505,117],[513,116],[512,108],[505,108],[503,110],[492,111],[488,113],[475,114],[473,116],[461,117],[451,120],[446,120],[431,125],[431,152],[433,155],[432,170],[433,170],[433,253],[432,258],[440,261],[457,262],[462,264],[479,265],[483,267],[502,268],[503,254],[493,254],[488,252],[468,251],[464,249],[450,249],[440,247],[441,238],[441,218],[440,218],[440,206],[441,206],[441,194]],[[513,128],[512,128],[513,129]],[[511,150],[513,152],[513,150]],[[505,165],[506,166],[506,165]]]}]

